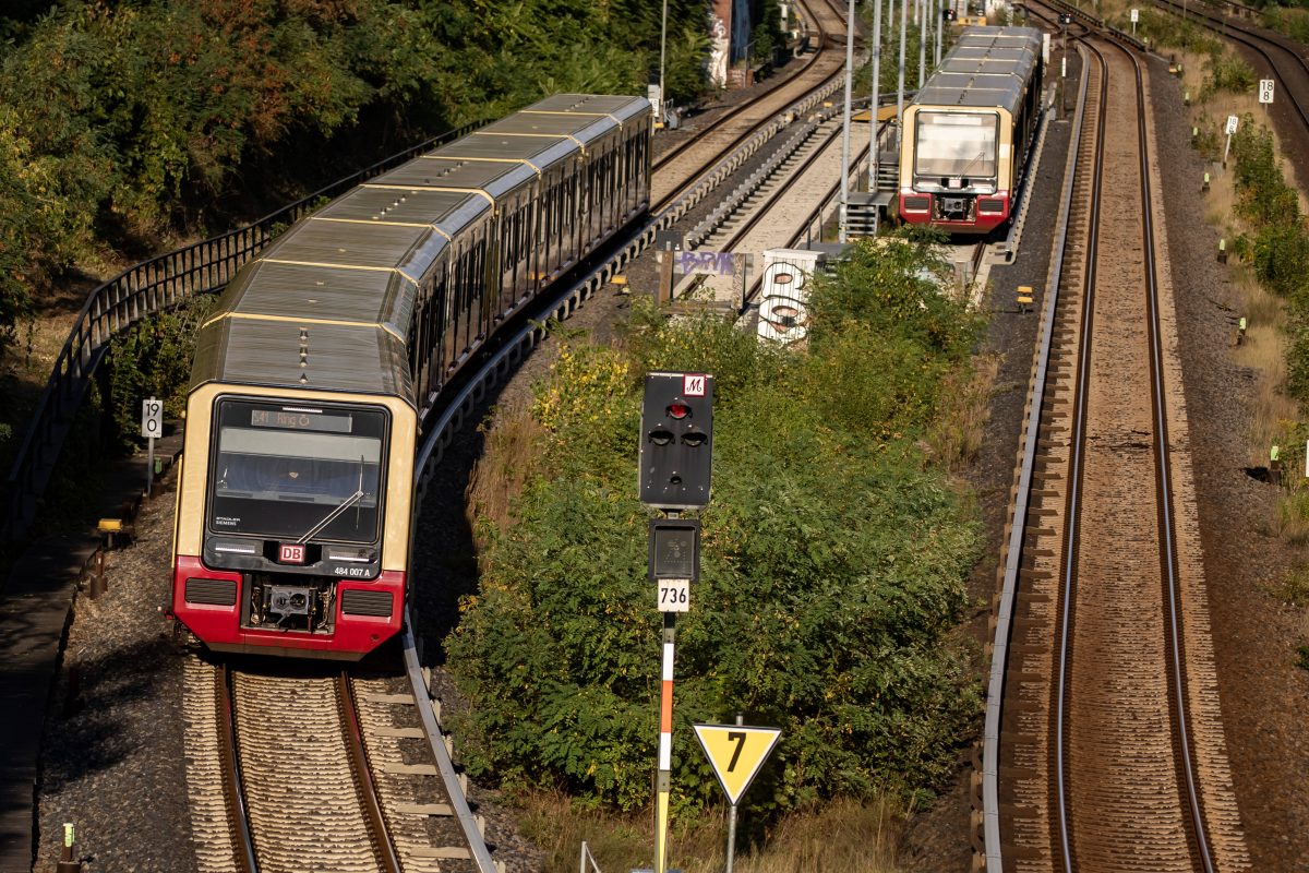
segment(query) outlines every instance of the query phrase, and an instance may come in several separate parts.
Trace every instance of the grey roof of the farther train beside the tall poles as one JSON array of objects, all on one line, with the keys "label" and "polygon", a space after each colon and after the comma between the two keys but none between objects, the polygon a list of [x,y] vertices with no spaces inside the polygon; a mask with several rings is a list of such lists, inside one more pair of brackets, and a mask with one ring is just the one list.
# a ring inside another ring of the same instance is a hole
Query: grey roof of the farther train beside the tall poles
[{"label": "grey roof of the farther train beside the tall poles", "polygon": [[1035,27],[967,27],[914,98],[915,106],[1001,107],[1014,111],[1041,63]]}]

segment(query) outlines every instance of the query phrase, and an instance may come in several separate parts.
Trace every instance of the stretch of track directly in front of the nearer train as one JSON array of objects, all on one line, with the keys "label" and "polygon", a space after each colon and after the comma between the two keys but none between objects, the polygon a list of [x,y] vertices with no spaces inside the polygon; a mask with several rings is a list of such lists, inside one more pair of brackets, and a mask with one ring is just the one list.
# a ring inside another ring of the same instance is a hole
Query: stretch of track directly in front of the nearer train
[{"label": "stretch of track directly in front of the nearer train", "polygon": [[[493,870],[418,715],[387,678],[187,665],[200,870]],[[475,823],[474,823],[474,827]]]}]

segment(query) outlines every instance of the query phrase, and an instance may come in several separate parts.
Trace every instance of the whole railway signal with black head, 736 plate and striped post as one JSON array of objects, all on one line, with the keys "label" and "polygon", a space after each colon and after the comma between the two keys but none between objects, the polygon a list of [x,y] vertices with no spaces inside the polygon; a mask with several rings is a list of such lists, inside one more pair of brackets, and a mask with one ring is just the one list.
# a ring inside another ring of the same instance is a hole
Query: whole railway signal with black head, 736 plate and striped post
[{"label": "whole railway signal with black head, 736 plate and striped post", "polygon": [[668,870],[668,806],[673,771],[673,662],[677,614],[691,605],[700,575],[700,521],[682,518],[709,503],[713,377],[649,373],[641,402],[637,484],[641,503],[664,517],[649,525],[649,579],[664,614],[658,770],[654,779],[654,873]]}]

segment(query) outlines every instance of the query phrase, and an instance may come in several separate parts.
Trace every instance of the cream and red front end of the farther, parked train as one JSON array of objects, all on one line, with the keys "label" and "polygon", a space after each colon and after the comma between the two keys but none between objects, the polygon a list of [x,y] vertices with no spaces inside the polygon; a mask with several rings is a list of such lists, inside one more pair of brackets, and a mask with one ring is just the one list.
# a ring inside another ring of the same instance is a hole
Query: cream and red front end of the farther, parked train
[{"label": "cream and red front end of the farther, parked train", "polygon": [[1014,164],[1007,111],[912,106],[906,128],[902,220],[952,233],[987,233],[1009,220]]}]

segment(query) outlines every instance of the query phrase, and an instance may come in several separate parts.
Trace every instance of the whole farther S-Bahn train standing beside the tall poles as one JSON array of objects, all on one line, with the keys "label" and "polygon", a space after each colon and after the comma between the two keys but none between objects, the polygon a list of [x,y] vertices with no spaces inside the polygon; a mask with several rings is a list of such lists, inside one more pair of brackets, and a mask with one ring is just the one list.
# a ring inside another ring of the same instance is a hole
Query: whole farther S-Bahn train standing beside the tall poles
[{"label": "whole farther S-Bahn train standing beside the tall poles", "polygon": [[1041,120],[1045,38],[967,27],[901,126],[899,216],[950,233],[1009,220]]}]

